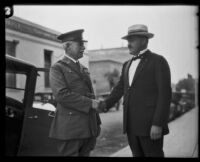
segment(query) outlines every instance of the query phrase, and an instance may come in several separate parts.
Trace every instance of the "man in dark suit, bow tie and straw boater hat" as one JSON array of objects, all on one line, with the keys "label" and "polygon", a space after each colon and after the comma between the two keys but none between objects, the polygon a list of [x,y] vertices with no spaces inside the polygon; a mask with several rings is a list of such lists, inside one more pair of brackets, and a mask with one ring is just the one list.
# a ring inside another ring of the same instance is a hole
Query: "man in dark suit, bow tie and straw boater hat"
[{"label": "man in dark suit, bow tie and straw boater hat", "polygon": [[108,111],[123,96],[123,128],[133,156],[164,157],[163,136],[171,101],[171,76],[166,59],[147,49],[154,34],[145,25],[128,28],[133,58],[124,63],[118,84],[99,109]]}]

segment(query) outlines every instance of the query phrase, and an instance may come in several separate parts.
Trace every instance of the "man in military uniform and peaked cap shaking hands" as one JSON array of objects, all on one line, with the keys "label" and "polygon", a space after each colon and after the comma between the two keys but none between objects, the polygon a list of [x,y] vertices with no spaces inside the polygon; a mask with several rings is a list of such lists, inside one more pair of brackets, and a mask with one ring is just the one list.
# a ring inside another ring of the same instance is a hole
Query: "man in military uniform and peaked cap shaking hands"
[{"label": "man in military uniform and peaked cap shaking hands", "polygon": [[85,50],[83,31],[58,36],[65,56],[50,69],[50,85],[57,108],[49,137],[57,140],[62,156],[89,156],[100,133],[98,101],[88,69],[78,62]]}]

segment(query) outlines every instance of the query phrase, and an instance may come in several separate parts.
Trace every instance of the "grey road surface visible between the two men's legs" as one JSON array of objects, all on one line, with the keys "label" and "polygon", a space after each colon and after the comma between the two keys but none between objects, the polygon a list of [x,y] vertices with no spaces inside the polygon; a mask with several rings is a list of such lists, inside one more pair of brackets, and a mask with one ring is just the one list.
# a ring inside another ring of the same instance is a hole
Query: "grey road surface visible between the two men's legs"
[{"label": "grey road surface visible between the two men's legs", "polygon": [[126,135],[123,134],[123,109],[110,110],[100,113],[101,133],[97,138],[95,149],[91,152],[92,157],[109,157],[116,151],[128,145]]}]

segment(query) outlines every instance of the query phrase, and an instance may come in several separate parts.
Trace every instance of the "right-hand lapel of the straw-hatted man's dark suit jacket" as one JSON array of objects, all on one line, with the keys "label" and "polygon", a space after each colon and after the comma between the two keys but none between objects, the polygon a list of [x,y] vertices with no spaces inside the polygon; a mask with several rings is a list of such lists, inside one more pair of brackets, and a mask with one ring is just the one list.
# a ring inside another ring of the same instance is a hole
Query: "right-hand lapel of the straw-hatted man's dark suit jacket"
[{"label": "right-hand lapel of the straw-hatted man's dark suit jacket", "polygon": [[147,57],[148,52],[149,52],[149,50],[145,52],[145,55],[146,55],[145,58],[143,58],[143,59],[140,61],[139,65],[137,66],[137,69],[136,69],[136,71],[135,71],[135,75],[134,75],[134,77],[133,77],[133,81],[132,81],[131,86],[134,84],[134,82],[136,81],[136,79],[137,79],[138,76],[141,74],[142,70],[144,69],[146,63],[148,62],[148,57]]}]

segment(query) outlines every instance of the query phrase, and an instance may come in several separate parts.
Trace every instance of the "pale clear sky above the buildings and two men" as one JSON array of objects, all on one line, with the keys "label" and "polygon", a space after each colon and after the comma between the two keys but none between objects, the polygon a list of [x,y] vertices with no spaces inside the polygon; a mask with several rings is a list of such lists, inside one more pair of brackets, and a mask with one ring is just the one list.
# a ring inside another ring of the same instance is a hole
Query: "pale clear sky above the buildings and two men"
[{"label": "pale clear sky above the buildings and two men", "polygon": [[164,56],[172,83],[198,77],[198,6],[192,5],[14,5],[14,16],[61,33],[84,29],[87,49],[126,47],[133,24],[154,34],[148,48]]}]

